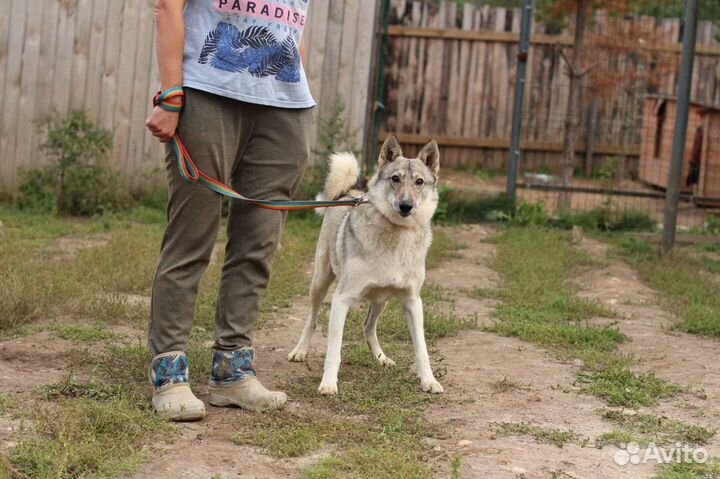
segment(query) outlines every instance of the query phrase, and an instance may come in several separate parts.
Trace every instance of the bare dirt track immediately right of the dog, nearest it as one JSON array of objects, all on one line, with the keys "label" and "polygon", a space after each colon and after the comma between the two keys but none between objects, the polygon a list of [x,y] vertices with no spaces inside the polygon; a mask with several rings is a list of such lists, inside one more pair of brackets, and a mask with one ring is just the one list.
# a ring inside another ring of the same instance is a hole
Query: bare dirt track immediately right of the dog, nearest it
[{"label": "bare dirt track immediately right of the dog, nearest it", "polygon": [[[468,248],[460,251],[460,258],[433,270],[428,280],[439,285],[451,278],[458,285],[496,286],[497,273],[487,266],[495,247],[483,242],[491,234],[482,226],[455,232],[453,238]],[[471,278],[475,282],[468,282]],[[456,309],[474,310],[486,323],[491,322],[493,302],[459,294]],[[448,370],[447,394],[430,414],[450,437],[437,441],[435,450],[439,457],[461,456],[460,477],[638,477],[637,469],[618,468],[609,448],[566,444],[560,449],[526,436],[496,434],[494,429],[503,422],[570,430],[589,440],[610,430],[601,419],[604,403],[578,394],[573,386],[576,366],[558,363],[532,344],[480,331],[443,339],[437,347]],[[447,461],[441,467],[447,474]]]}]

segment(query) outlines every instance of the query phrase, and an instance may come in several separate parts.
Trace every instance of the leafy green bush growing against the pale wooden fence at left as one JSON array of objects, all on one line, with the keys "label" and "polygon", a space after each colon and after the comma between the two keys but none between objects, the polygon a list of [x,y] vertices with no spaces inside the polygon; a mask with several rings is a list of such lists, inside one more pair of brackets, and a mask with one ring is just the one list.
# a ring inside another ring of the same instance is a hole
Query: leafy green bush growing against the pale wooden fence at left
[{"label": "leafy green bush growing against the pale wooden fence at left", "polygon": [[18,208],[92,216],[126,205],[129,197],[105,163],[112,147],[109,130],[95,127],[83,111],[64,118],[53,113],[41,129],[47,131],[41,148],[51,161],[21,173]]}]

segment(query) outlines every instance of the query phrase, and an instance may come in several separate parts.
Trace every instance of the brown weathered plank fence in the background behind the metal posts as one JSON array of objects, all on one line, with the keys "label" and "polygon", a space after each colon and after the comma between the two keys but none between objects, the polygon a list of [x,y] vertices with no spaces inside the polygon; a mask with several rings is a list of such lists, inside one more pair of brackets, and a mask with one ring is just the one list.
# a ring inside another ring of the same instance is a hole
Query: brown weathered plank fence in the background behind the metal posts
[{"label": "brown weathered plank fence in the background behind the metal posts", "polygon": [[[503,168],[520,11],[470,4],[460,9],[455,2],[393,1],[392,6],[384,130],[400,133],[409,145],[437,138],[445,146],[446,165]],[[571,30],[572,25],[553,31],[533,24],[523,118],[525,170],[559,168],[569,85],[561,51],[572,56]],[[700,23],[693,81],[693,97],[716,104],[717,33],[709,22]],[[642,98],[676,90],[679,42],[679,20],[596,13],[586,34],[590,74],[583,80],[579,153],[587,140],[595,155],[638,154]]]}]

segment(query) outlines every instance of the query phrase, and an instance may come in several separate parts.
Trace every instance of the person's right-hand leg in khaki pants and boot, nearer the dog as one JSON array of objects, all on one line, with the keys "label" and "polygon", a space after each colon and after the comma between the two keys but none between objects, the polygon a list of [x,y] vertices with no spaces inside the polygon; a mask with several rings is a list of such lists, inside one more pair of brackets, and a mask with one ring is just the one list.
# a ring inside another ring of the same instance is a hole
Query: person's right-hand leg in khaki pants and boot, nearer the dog
[{"label": "person's right-hand leg in khaki pants and boot, nearer the dog", "polygon": [[[244,105],[254,118],[252,135],[238,153],[233,188],[258,199],[288,200],[307,165],[311,111]],[[216,311],[215,361],[210,403],[250,409],[278,407],[283,393],[267,391],[255,378],[251,334],[285,213],[232,201],[228,246]],[[250,379],[248,381],[248,379]],[[228,386],[244,383],[230,392]]]}]

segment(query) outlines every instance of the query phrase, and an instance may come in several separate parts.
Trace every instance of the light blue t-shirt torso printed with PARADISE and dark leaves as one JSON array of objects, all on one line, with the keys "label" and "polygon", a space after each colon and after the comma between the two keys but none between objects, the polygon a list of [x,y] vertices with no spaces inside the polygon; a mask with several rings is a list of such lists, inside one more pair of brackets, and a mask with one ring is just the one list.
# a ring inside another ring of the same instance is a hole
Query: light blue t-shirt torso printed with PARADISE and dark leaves
[{"label": "light blue t-shirt torso printed with PARADISE and dark leaves", "polygon": [[309,0],[188,0],[183,85],[249,103],[315,104],[300,58]]}]

